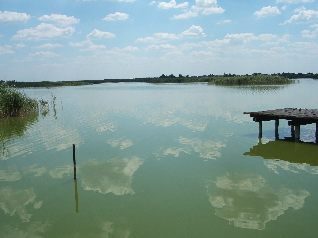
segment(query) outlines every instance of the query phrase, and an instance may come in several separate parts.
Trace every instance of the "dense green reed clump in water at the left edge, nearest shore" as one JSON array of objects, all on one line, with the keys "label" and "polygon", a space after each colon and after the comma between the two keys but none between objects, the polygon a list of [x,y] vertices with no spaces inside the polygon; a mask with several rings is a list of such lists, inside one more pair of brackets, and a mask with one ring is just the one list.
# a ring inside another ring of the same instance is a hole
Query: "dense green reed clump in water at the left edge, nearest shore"
[{"label": "dense green reed clump in water at the left edge, nearest shore", "polygon": [[0,118],[23,116],[38,111],[38,101],[10,87],[6,82],[0,84]]}]

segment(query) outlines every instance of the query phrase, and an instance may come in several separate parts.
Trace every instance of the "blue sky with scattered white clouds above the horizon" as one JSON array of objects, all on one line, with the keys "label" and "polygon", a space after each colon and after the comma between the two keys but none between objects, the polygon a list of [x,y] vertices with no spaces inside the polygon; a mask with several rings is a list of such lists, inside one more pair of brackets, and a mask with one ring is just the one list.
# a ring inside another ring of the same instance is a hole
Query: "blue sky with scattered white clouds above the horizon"
[{"label": "blue sky with scattered white clouds above the horizon", "polygon": [[0,0],[0,79],[318,73],[315,0]]}]

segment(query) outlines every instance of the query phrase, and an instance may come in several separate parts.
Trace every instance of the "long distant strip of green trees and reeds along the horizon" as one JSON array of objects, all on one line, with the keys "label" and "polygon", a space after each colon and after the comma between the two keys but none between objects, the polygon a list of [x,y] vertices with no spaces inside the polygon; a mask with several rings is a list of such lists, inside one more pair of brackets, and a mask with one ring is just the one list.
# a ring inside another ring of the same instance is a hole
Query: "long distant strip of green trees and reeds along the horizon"
[{"label": "long distant strip of green trees and reeds along the horizon", "polygon": [[[144,83],[212,83],[218,85],[256,85],[256,84],[285,84],[293,83],[294,80],[300,78],[313,78],[318,79],[318,74],[294,74],[294,73],[277,73],[277,74],[259,74],[253,73],[252,75],[204,75],[204,76],[174,76],[161,75],[157,78],[131,78],[131,79],[103,79],[103,80],[77,80],[77,81],[41,81],[41,82],[19,82],[19,81],[6,81],[7,85],[17,88],[38,88],[38,87],[63,87],[63,86],[79,86],[91,85],[100,83],[124,83],[124,82],[144,82]],[[0,84],[5,81],[0,80]]]}]

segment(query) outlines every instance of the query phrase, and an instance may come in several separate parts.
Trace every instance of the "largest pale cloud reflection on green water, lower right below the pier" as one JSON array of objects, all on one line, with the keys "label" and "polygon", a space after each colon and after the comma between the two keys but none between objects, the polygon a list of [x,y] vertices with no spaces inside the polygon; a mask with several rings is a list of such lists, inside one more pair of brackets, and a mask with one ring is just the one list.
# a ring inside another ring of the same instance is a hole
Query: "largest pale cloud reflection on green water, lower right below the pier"
[{"label": "largest pale cloud reflection on green water, lower right below the pier", "polygon": [[216,181],[207,181],[207,195],[215,215],[222,217],[236,227],[264,229],[265,223],[276,220],[292,207],[300,209],[309,192],[303,188],[281,188],[278,192],[266,184],[260,175],[227,173]]}]

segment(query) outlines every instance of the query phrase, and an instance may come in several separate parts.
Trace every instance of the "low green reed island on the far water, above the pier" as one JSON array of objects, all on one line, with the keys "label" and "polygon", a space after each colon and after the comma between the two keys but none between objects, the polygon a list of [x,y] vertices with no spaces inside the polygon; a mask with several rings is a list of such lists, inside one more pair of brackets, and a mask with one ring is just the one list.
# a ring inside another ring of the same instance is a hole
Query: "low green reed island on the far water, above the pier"
[{"label": "low green reed island on the far water, above the pier", "polygon": [[213,78],[211,81],[217,85],[262,85],[262,84],[287,84],[294,80],[277,75],[246,75],[234,77]]}]

